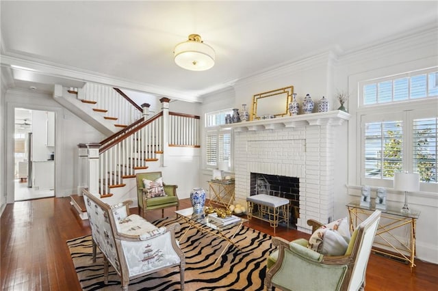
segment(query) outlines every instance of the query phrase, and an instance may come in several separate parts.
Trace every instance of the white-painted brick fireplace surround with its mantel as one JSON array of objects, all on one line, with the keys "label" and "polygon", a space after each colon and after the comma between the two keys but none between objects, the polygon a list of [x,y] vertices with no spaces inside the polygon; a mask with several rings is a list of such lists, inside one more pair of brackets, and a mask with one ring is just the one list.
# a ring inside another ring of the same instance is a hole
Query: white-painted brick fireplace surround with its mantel
[{"label": "white-painted brick fireplace surround with its mantel", "polygon": [[348,120],[342,111],[312,113],[232,124],[235,131],[235,195],[251,193],[251,173],[299,180],[298,230],[309,232],[307,219],[327,223],[334,211],[333,130]]}]

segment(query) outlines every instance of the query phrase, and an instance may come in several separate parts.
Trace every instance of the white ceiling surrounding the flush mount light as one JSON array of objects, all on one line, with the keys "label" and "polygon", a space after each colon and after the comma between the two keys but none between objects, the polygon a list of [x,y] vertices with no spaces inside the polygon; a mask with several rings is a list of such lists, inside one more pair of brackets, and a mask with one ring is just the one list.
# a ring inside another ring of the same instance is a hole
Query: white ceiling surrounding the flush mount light
[{"label": "white ceiling surrounding the flush mount light", "polygon": [[[303,57],[328,50],[342,55],[438,23],[438,1],[0,5],[2,72],[10,65],[35,70],[25,70],[34,72],[25,80],[12,74],[12,85],[36,81],[47,86],[61,79],[66,86],[73,80],[79,87],[81,81],[97,81],[187,100]],[[190,33],[200,34],[216,50],[211,70],[183,70],[173,61],[175,45]]]}]

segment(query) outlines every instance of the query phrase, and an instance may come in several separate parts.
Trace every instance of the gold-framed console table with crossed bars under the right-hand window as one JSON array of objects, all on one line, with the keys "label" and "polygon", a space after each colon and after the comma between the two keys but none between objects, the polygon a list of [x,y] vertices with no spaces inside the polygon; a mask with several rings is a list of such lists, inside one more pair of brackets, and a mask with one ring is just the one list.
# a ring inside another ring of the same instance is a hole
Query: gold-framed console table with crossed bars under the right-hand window
[{"label": "gold-framed console table with crossed bars under the right-hand window", "polygon": [[[374,206],[361,206],[360,202],[352,202],[346,206],[350,217],[351,231],[374,210],[378,209]],[[378,223],[372,250],[376,253],[407,262],[411,265],[412,272],[412,268],[415,266],[415,225],[418,217],[420,217],[420,211],[411,210],[411,213],[402,213],[394,208],[378,210],[381,210],[382,215],[381,221]],[[396,232],[400,231],[398,234],[402,233],[402,235],[406,236],[406,232],[403,230],[404,225],[409,228],[409,237],[405,239],[396,235]],[[379,248],[378,246],[384,248]]]}]

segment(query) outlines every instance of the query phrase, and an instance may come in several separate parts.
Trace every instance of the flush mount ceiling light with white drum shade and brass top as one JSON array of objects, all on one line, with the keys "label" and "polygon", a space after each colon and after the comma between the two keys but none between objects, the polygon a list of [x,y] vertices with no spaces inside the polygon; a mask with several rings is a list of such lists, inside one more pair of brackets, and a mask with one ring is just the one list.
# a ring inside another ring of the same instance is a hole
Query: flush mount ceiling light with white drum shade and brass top
[{"label": "flush mount ceiling light with white drum shade and brass top", "polygon": [[204,71],[214,66],[214,49],[205,44],[198,34],[190,34],[189,39],[175,46],[175,63],[181,68]]}]

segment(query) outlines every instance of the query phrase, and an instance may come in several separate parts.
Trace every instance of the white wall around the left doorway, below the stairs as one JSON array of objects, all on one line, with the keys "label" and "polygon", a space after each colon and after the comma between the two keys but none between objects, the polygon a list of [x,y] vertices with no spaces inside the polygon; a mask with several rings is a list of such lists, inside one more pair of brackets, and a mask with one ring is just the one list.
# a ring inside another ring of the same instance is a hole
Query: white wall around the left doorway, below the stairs
[{"label": "white wall around the left doorway, below the stairs", "polygon": [[5,96],[6,161],[8,203],[14,202],[14,111],[26,108],[55,112],[55,196],[68,197],[77,191],[77,144],[101,141],[104,136],[76,115],[62,107],[51,96],[8,90]]}]

